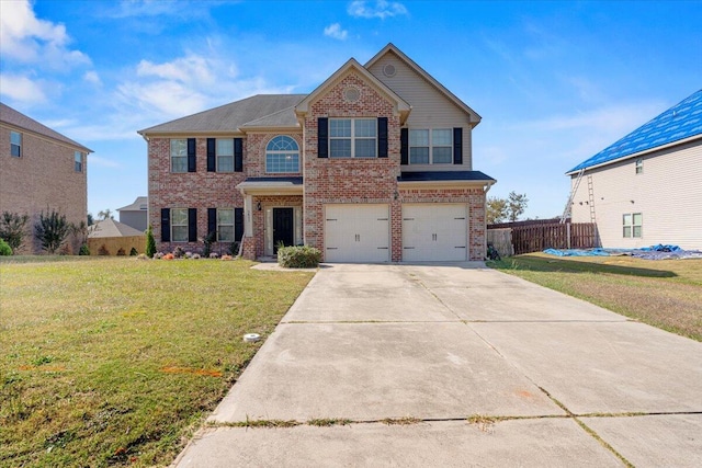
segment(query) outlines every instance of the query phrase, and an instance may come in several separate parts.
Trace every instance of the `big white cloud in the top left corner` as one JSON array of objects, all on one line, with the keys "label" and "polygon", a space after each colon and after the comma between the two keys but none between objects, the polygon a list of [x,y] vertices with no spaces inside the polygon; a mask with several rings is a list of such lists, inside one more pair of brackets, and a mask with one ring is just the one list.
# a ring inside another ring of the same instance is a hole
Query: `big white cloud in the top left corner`
[{"label": "big white cloud in the top left corner", "polygon": [[37,19],[29,0],[0,1],[0,54],[5,59],[54,69],[90,64],[69,43],[66,26]]}]

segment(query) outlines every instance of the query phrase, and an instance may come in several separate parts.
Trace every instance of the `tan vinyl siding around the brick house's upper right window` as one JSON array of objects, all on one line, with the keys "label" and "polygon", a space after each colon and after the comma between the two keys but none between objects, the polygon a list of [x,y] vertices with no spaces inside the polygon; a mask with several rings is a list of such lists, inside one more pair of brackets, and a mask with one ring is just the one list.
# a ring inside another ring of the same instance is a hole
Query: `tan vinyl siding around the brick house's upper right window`
[{"label": "tan vinyl siding around the brick house's upper right window", "polygon": [[[394,77],[383,73],[385,65],[395,66]],[[456,106],[449,98],[429,83],[395,54],[386,54],[369,70],[378,80],[407,101],[412,111],[407,119],[409,128],[453,128],[463,127],[463,164],[407,165],[403,170],[469,171],[473,170],[471,146],[471,116]]]}]

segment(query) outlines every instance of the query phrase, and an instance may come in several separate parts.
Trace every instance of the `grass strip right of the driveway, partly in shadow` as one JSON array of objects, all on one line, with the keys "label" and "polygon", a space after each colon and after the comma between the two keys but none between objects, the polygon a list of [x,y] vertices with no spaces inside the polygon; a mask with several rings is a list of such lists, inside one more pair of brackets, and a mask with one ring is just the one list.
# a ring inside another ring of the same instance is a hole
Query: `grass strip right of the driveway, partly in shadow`
[{"label": "grass strip right of the driveway, partly in shadow", "polygon": [[702,341],[702,260],[531,253],[488,266]]}]

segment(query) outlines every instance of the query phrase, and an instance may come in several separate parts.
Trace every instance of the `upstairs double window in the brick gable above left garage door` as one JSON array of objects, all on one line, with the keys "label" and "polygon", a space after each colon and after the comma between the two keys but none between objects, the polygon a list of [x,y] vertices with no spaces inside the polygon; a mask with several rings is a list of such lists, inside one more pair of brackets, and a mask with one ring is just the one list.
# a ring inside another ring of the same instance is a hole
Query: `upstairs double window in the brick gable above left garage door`
[{"label": "upstairs double window in the brick gable above left garage door", "polygon": [[330,118],[329,156],[331,158],[375,158],[377,121],[375,118]]}]

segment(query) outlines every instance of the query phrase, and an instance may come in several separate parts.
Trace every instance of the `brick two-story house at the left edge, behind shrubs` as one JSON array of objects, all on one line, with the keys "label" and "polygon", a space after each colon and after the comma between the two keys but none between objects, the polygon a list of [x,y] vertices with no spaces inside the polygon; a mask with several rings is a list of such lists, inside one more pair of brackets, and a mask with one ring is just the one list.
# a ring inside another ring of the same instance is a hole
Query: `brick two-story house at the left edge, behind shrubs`
[{"label": "brick two-story house at the left edge, behind shrubs", "polygon": [[90,152],[0,103],[0,213],[30,216],[22,253],[41,252],[34,239],[34,225],[42,212],[56,210],[73,225],[86,222]]}]

